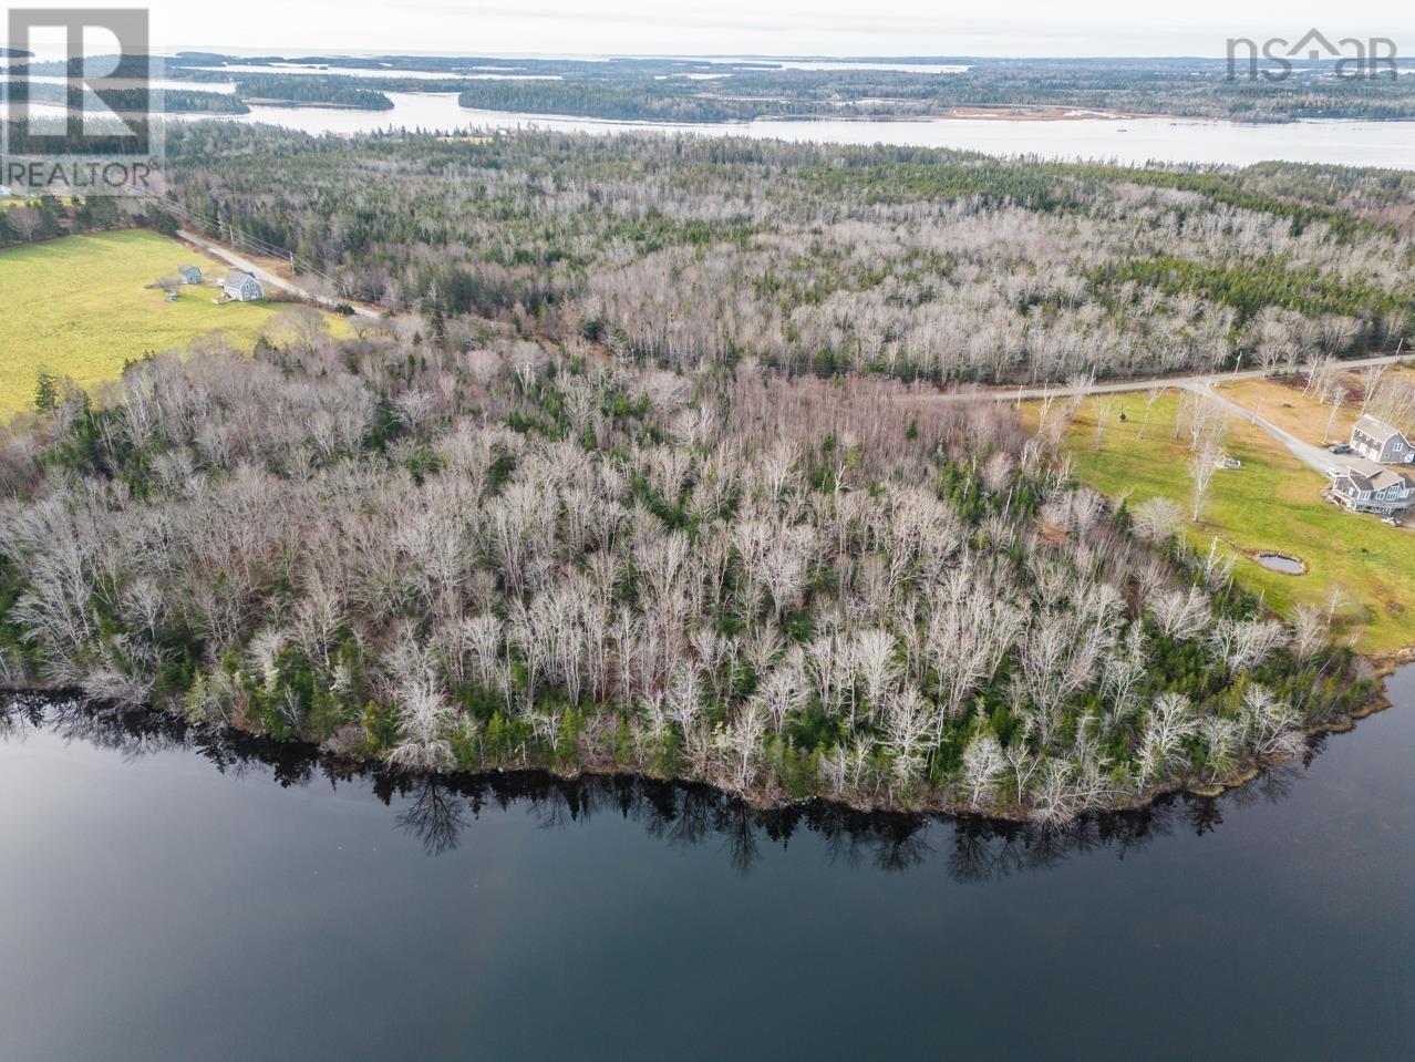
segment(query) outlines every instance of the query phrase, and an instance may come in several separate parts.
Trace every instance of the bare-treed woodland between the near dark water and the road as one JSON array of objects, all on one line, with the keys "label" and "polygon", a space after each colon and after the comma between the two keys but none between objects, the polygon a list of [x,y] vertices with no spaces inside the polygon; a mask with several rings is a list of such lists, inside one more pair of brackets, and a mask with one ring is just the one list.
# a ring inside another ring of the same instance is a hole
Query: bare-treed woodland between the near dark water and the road
[{"label": "bare-treed woodland between the near dark water and the road", "polygon": [[0,681],[403,770],[1063,821],[1370,695],[993,404],[287,312],[0,440]]}]

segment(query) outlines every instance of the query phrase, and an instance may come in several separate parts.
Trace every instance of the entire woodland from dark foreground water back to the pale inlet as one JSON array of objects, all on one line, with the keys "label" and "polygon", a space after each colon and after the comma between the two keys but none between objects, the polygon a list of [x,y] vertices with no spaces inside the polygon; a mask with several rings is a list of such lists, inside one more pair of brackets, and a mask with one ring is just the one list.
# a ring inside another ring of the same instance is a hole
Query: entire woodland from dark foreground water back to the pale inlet
[{"label": "entire woodland from dark foreground water back to the pale inlet", "polygon": [[[168,149],[147,224],[389,313],[335,338],[289,310],[253,357],[214,337],[92,395],[41,375],[0,435],[7,684],[409,772],[1044,823],[1242,777],[1374,695],[1334,605],[1285,624],[1177,506],[1071,477],[1084,387],[1030,433],[937,385],[1399,347],[1409,174],[218,123]],[[1174,432],[1207,453],[1200,405]]]}]

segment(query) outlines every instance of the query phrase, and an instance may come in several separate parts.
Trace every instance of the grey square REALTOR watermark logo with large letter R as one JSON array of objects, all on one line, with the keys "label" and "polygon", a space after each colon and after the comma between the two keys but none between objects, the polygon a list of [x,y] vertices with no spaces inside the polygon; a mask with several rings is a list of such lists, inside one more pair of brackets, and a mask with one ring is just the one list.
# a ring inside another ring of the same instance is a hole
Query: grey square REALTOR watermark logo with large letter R
[{"label": "grey square REALTOR watermark logo with large letter R", "polygon": [[[10,8],[6,42],[20,58],[10,61],[0,113],[0,187],[16,195],[147,188],[161,159],[147,23],[142,7]],[[38,38],[61,40],[62,62],[27,57]]]}]

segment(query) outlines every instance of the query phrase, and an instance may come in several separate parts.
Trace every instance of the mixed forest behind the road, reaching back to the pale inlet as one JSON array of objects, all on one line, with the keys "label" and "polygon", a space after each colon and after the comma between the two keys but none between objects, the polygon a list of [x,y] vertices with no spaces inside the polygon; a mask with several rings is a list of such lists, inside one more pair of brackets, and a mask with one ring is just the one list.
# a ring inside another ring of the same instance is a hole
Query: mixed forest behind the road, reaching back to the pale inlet
[{"label": "mixed forest behind the road, reaching back to the pale inlet", "polygon": [[1064,381],[1395,350],[1411,174],[692,136],[171,130],[184,224],[429,327],[693,371]]}]

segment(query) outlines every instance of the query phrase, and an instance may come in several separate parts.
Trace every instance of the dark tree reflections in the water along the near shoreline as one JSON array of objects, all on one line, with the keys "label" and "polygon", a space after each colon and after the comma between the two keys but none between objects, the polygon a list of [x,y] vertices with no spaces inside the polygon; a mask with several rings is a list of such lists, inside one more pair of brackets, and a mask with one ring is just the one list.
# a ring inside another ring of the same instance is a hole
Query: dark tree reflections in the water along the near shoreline
[{"label": "dark tree reflections in the water along the near shoreline", "polygon": [[[1020,871],[1056,867],[1074,854],[1111,850],[1118,858],[1179,828],[1199,835],[1223,824],[1223,809],[1288,796],[1298,765],[1269,770],[1223,797],[1172,796],[1138,811],[1092,814],[1063,827],[972,817],[879,814],[812,800],[782,809],[753,809],[710,786],[658,782],[635,776],[562,779],[543,772],[495,772],[439,777],[400,775],[381,766],[317,753],[306,745],[255,738],[225,728],[190,726],[178,718],[143,709],[98,707],[78,698],[10,695],[0,701],[0,741],[20,741],[47,729],[65,741],[113,749],[134,760],[164,752],[191,752],[222,775],[269,773],[282,787],[316,779],[369,789],[396,807],[398,828],[417,837],[432,855],[457,847],[463,830],[487,809],[524,806],[542,828],[569,828],[597,814],[617,814],[672,847],[720,845],[732,865],[746,872],[764,845],[790,844],[801,830],[822,838],[832,861],[906,871],[947,847],[949,878],[985,882]],[[1324,748],[1313,739],[1302,763]]]}]

